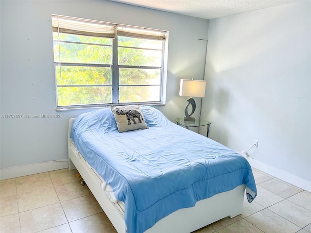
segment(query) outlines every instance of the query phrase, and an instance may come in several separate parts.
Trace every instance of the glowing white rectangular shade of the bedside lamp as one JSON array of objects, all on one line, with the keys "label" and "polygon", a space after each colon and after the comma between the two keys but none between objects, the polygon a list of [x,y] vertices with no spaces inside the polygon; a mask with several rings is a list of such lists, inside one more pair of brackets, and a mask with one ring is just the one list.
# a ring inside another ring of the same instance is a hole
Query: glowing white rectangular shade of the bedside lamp
[{"label": "glowing white rectangular shade of the bedside lamp", "polygon": [[188,97],[204,97],[205,96],[206,81],[204,80],[180,80],[180,96]]}]

